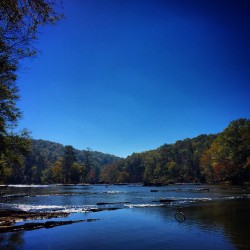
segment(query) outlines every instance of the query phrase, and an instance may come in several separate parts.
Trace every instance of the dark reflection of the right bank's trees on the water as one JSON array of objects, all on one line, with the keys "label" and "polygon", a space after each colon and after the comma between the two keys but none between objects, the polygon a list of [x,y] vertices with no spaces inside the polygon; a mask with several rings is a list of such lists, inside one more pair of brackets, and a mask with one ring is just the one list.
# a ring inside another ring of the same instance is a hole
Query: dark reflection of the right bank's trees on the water
[{"label": "dark reflection of the right bank's trees on the water", "polygon": [[208,202],[184,208],[187,226],[221,231],[238,249],[250,249],[250,200]]}]

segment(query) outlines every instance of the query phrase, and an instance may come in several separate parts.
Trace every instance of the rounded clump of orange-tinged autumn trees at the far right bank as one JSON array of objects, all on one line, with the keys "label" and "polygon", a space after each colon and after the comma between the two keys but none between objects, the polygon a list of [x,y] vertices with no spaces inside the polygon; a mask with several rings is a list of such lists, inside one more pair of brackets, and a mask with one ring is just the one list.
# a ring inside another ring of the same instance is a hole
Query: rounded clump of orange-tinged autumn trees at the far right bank
[{"label": "rounded clump of orange-tinged autumn trees at the far right bank", "polygon": [[203,173],[212,182],[250,180],[250,120],[233,121],[202,155]]}]

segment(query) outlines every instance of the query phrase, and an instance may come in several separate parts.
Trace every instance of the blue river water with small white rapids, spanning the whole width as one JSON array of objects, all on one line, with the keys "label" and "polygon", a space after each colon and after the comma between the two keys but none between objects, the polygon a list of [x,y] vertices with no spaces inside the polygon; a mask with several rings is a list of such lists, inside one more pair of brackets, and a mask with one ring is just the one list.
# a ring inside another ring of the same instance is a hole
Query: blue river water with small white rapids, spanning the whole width
[{"label": "blue river water with small white rapids, spanning the whole width", "polygon": [[[209,190],[208,190],[209,189]],[[0,234],[0,249],[250,249],[250,188],[203,185],[9,186],[0,207],[99,219]],[[161,199],[172,199],[160,203]],[[97,203],[109,203],[97,205]],[[91,208],[121,208],[91,212]],[[178,207],[182,223],[174,218]],[[21,222],[20,222],[21,223]]]}]

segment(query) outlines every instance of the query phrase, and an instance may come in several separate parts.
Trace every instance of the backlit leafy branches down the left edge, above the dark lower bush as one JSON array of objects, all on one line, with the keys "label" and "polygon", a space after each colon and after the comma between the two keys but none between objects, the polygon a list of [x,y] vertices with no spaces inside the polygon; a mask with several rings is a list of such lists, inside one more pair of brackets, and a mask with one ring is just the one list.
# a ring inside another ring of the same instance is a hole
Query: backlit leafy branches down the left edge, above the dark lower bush
[{"label": "backlit leafy branches down the left edge, above the dark lower bush", "polygon": [[0,1],[0,133],[13,128],[21,112],[16,106],[19,99],[15,85],[18,62],[33,56],[37,50],[32,42],[38,28],[55,24],[61,14],[55,12],[56,1],[8,0]]}]

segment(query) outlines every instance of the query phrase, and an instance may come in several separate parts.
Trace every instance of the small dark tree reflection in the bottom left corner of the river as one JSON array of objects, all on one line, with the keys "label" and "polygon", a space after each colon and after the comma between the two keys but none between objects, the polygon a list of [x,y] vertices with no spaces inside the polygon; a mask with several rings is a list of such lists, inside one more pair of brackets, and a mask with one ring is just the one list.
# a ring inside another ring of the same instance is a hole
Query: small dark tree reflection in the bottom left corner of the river
[{"label": "small dark tree reflection in the bottom left corner of the river", "polygon": [[23,232],[0,234],[0,249],[16,250],[23,246]]}]

